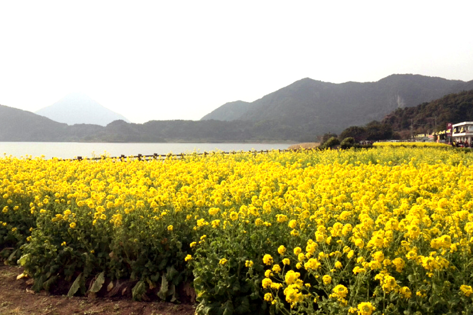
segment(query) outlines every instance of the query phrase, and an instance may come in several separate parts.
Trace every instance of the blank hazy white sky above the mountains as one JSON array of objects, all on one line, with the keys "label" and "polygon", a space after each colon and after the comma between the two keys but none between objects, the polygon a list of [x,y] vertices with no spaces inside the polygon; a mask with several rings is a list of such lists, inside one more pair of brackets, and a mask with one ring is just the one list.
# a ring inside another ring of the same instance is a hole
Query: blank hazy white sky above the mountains
[{"label": "blank hazy white sky above the mountains", "polygon": [[304,77],[473,79],[473,1],[0,0],[0,104],[198,120]]}]

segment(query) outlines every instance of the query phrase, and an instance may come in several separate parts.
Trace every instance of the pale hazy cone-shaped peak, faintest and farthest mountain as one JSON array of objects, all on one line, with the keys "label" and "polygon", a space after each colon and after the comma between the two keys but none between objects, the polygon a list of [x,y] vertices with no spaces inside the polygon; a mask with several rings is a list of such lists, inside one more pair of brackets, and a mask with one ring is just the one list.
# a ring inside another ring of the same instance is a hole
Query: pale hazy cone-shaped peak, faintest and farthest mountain
[{"label": "pale hazy cone-shaped peak, faintest and farthest mountain", "polygon": [[59,123],[68,125],[93,124],[107,126],[115,120],[130,122],[124,116],[111,111],[84,93],[70,93],[53,105],[35,111]]}]

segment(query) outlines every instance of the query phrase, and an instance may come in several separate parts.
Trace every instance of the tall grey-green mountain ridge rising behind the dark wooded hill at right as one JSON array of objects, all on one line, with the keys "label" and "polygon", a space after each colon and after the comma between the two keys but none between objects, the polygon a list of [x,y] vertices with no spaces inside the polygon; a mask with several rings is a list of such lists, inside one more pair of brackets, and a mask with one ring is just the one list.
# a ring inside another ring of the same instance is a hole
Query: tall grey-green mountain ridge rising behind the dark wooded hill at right
[{"label": "tall grey-green mountain ridge rising behind the dark wooded hill at right", "polygon": [[[272,121],[313,134],[338,133],[381,120],[398,108],[473,89],[473,80],[393,74],[377,82],[341,84],[305,78],[252,103],[227,103],[202,120]],[[229,118],[233,117],[233,118]]]}]

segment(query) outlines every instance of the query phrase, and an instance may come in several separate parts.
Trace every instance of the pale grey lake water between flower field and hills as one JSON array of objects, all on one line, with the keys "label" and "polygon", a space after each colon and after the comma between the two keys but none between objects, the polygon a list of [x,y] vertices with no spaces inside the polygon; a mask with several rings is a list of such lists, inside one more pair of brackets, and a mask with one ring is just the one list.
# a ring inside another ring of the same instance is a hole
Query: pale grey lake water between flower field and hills
[{"label": "pale grey lake water between flower field and hills", "polygon": [[250,151],[287,149],[290,144],[265,143],[83,143],[83,142],[0,142],[0,158],[6,156],[26,157],[31,155],[45,159],[53,157],[72,159],[81,157],[98,157],[131,155],[166,155],[167,153],[190,153],[210,151]]}]

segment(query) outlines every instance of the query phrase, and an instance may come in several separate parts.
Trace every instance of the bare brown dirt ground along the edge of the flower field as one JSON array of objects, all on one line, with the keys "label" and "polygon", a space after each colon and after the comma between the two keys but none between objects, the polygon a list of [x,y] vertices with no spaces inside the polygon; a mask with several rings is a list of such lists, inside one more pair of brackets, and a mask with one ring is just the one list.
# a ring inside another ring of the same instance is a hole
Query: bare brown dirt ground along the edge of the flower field
[{"label": "bare brown dirt ground along the edge of the flower field", "polygon": [[20,267],[0,265],[0,315],[193,315],[194,305],[38,294]]}]

